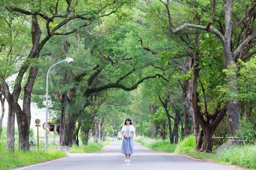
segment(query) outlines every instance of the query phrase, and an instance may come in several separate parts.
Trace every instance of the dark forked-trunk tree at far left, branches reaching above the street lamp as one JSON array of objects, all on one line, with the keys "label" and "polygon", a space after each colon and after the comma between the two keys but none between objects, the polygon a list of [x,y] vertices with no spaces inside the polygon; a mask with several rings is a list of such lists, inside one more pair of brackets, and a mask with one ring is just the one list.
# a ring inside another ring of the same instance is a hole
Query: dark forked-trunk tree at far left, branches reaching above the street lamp
[{"label": "dark forked-trunk tree at far left, branches reaching above the street lamp", "polygon": [[[12,1],[4,1],[3,5],[8,11],[14,13],[21,13],[23,15],[29,15],[31,17],[31,37],[32,37],[32,49],[29,55],[24,60],[23,64],[18,71],[17,78],[15,80],[14,90],[11,93],[9,86],[5,80],[2,80],[2,92],[6,97],[10,106],[9,117],[13,117],[15,112],[17,114],[17,122],[19,128],[19,147],[23,150],[29,150],[29,125],[30,125],[30,100],[32,94],[32,88],[35,82],[35,77],[38,72],[37,65],[31,65],[29,61],[37,61],[40,56],[40,51],[44,47],[45,43],[53,36],[68,35],[77,31],[79,28],[89,26],[93,20],[99,17],[108,16],[114,13],[125,2],[119,1],[106,1],[104,3],[90,3],[81,4],[78,0],[66,0],[56,3],[48,3],[41,1],[35,1],[27,6],[26,3],[14,3]],[[15,4],[15,5],[14,5]],[[84,8],[84,5],[90,6],[90,8]],[[95,9],[95,10],[94,10]],[[71,21],[78,20],[80,25],[76,28],[70,28],[65,32],[60,32],[59,29],[65,26]],[[46,28],[46,34],[42,34],[41,27]],[[23,108],[18,105],[17,100],[21,91],[21,82],[24,74],[29,69],[29,76],[27,83],[24,86],[23,96]],[[14,119],[9,119],[9,125],[14,124]],[[7,148],[14,149],[14,130],[13,126],[8,127],[8,139]],[[12,128],[12,130],[9,130]]]}]

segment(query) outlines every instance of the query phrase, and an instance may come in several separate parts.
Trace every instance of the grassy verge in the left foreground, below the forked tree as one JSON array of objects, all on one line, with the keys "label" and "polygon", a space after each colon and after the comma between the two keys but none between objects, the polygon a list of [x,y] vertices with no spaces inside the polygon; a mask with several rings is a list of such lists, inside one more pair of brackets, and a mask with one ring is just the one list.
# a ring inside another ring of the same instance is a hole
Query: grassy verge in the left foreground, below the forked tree
[{"label": "grassy verge in the left foreground, below the forked tree", "polygon": [[0,143],[0,170],[8,170],[38,162],[48,161],[67,156],[66,153],[59,150],[15,150],[14,152],[6,150],[5,143]]}]

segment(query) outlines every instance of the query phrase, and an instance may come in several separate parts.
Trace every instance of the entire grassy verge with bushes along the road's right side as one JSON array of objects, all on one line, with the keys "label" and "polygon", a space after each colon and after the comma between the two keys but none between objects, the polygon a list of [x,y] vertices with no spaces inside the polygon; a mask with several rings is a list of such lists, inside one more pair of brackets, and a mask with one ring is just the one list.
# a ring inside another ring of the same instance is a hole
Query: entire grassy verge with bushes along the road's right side
[{"label": "entire grassy verge with bushes along the road's right side", "polygon": [[143,136],[138,136],[134,140],[153,150],[159,150],[167,153],[181,153],[204,161],[235,164],[241,167],[256,169],[256,145],[234,146],[224,149],[218,155],[215,155],[213,153],[201,153],[194,151],[194,136],[188,136],[176,145],[170,144],[168,140],[163,144],[163,140],[161,139],[156,140]]}]

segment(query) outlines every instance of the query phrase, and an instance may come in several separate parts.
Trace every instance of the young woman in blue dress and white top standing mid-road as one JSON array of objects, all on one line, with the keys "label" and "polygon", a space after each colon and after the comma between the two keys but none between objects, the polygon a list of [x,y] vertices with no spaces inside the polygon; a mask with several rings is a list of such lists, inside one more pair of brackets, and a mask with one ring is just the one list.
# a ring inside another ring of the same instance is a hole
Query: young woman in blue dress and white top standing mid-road
[{"label": "young woman in blue dress and white top standing mid-road", "polygon": [[135,128],[131,125],[131,119],[125,120],[125,125],[122,127],[121,134],[124,136],[122,141],[121,153],[125,154],[125,162],[131,162],[131,154],[134,153],[133,136]]}]

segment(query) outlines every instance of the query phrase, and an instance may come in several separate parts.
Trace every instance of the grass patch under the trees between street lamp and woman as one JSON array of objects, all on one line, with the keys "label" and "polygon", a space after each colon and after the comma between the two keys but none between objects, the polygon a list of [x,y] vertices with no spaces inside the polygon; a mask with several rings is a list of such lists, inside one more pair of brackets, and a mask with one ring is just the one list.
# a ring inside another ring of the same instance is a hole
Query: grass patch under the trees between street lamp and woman
[{"label": "grass patch under the trees between street lamp and woman", "polygon": [[88,144],[86,146],[84,145],[73,145],[70,148],[70,153],[92,153],[92,152],[98,152],[103,149],[106,145],[108,145],[111,142],[111,140],[107,141],[99,141],[97,144],[94,143],[93,139],[90,139],[88,141]]}]

